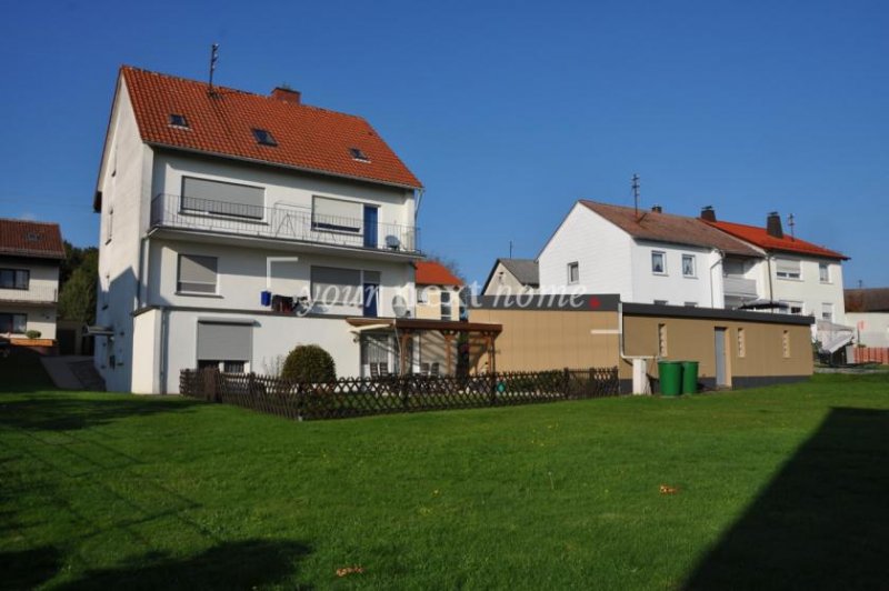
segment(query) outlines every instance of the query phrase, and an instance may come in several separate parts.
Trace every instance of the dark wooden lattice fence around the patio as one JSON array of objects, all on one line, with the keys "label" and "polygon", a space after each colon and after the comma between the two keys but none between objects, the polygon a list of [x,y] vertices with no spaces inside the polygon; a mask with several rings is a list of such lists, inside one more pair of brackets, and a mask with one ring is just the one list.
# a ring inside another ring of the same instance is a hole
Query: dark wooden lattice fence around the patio
[{"label": "dark wooden lattice fence around the patio", "polygon": [[183,370],[179,391],[202,400],[311,420],[613,397],[620,394],[620,380],[618,368],[590,368],[462,378],[341,378],[309,384],[204,369]]}]

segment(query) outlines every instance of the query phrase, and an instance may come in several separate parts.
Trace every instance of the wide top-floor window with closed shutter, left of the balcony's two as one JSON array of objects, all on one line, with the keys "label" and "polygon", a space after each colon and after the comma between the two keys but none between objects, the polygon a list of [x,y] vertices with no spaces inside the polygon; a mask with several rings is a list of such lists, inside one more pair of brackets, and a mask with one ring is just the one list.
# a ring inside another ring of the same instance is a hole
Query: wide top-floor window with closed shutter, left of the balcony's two
[{"label": "wide top-floor window with closed shutter, left of the balcony's two", "polygon": [[261,187],[182,178],[182,211],[261,220],[266,190]]}]

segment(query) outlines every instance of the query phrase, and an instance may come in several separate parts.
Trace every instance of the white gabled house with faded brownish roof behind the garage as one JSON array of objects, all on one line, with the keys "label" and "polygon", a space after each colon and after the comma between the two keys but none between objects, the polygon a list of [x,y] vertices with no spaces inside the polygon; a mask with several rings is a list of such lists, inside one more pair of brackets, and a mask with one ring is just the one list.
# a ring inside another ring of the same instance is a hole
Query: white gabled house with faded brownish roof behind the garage
[{"label": "white gabled house with faded brownish roof behind the garage", "polygon": [[581,200],[538,256],[543,293],[617,293],[622,301],[725,308],[756,300],[765,253],[697,218]]}]

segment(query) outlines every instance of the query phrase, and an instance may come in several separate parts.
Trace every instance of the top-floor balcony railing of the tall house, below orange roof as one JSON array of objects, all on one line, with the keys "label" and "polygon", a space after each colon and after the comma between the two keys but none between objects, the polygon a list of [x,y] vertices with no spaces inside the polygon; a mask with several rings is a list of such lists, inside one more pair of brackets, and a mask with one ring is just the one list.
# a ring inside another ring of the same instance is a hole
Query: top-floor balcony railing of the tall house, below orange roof
[{"label": "top-floor balcony railing of the tall house, below orange roof", "polygon": [[[370,220],[374,217],[370,217]],[[388,252],[419,251],[417,228],[373,223],[370,220],[317,216],[310,208],[293,206],[266,208],[176,194],[159,194],[151,201],[152,228],[200,230]]]}]

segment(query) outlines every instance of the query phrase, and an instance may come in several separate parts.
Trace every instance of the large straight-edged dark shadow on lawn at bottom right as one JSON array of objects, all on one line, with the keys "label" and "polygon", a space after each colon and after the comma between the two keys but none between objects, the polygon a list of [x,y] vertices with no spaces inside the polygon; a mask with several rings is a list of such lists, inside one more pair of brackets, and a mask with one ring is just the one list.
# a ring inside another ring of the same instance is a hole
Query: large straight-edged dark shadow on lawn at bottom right
[{"label": "large straight-edged dark shadow on lawn at bottom right", "polygon": [[685,589],[886,589],[889,411],[831,409]]}]

